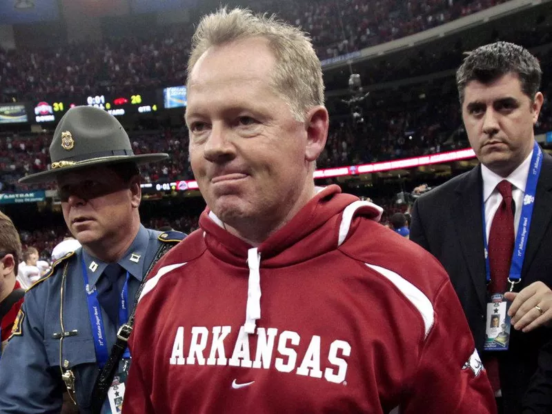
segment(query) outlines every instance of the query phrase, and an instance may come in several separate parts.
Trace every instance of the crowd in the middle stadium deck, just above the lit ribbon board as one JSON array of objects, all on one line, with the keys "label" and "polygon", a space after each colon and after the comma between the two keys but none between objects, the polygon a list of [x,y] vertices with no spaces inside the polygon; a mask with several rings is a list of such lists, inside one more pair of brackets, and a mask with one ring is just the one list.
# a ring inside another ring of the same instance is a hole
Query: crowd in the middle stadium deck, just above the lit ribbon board
[{"label": "crowd in the middle stadium deck, just above the lit ribbon board", "polygon": [[[546,98],[537,133],[552,130],[552,105],[547,98],[552,94],[552,83],[545,84],[542,90]],[[350,116],[337,118],[317,165],[331,168],[467,148],[469,143],[458,105],[454,95],[447,95],[420,100],[411,108],[400,110],[367,108],[362,124],[353,123]],[[49,168],[47,149],[51,139],[51,135],[44,133],[1,137],[0,189],[37,188],[17,186],[17,179]],[[130,139],[136,154],[151,151],[170,154],[166,162],[142,168],[144,182],[193,179],[186,127],[135,131],[130,133]]]}]

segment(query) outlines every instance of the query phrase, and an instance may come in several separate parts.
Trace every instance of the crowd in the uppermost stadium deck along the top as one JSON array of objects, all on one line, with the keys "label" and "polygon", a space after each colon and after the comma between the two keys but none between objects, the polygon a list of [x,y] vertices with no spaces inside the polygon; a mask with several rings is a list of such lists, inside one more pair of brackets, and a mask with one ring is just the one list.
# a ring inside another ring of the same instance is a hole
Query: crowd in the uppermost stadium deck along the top
[{"label": "crowd in the uppermost stadium deck along the top", "polygon": [[[420,32],[505,0],[240,1],[277,12],[313,37],[320,59],[329,59]],[[155,29],[147,39],[110,38],[43,50],[0,48],[0,101],[126,93],[184,83],[191,24]]]}]

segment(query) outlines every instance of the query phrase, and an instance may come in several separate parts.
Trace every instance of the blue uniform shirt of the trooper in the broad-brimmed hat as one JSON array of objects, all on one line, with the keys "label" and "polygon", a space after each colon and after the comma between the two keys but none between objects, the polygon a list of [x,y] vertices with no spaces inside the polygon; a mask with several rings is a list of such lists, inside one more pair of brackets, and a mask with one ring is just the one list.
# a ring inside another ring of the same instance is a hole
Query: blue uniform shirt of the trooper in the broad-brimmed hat
[{"label": "blue uniform shirt of the trooper in the broad-brimmed hat", "polygon": [[[135,240],[118,262],[129,276],[129,314],[144,273],[161,245],[175,244],[184,237],[184,233],[161,233],[140,226]],[[50,273],[28,290],[0,361],[1,414],[59,413],[65,389],[61,367],[75,375],[79,410],[90,412],[90,397],[99,367],[83,268],[87,269],[90,288],[94,288],[106,266],[79,248],[56,262]],[[66,277],[62,284],[63,273]],[[112,322],[103,308],[101,314],[110,352],[119,324]],[[60,360],[59,334],[63,332],[71,335],[63,338]]]}]

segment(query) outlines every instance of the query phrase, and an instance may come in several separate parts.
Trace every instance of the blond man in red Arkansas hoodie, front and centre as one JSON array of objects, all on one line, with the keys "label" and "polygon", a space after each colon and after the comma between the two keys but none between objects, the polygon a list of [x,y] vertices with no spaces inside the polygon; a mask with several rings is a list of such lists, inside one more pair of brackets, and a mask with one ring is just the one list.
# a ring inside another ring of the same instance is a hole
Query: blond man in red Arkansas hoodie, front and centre
[{"label": "blond man in red Arkansas hoodie, front and centre", "polygon": [[323,103],[300,30],[202,19],[186,123],[208,207],[141,293],[125,414],[495,413],[440,264],[381,208],[315,187]]}]

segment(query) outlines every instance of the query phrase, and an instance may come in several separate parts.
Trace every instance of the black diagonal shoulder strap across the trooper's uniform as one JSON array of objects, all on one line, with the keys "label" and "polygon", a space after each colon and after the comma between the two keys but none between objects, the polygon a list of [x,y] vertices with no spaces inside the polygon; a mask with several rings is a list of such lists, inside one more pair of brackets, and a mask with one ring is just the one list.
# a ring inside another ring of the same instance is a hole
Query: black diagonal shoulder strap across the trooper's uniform
[{"label": "black diagonal shoulder strap across the trooper's uniform", "polygon": [[117,340],[111,348],[111,353],[109,354],[106,365],[103,366],[103,369],[96,378],[96,382],[92,390],[92,400],[90,401],[93,414],[101,413],[101,407],[103,406],[103,402],[106,400],[106,397],[108,395],[109,387],[113,382],[113,377],[115,377],[115,371],[117,371],[117,368],[119,366],[119,361],[121,360],[121,357],[125,353],[126,347],[128,346],[127,342],[130,334],[132,333],[132,325],[134,325],[134,317],[136,313],[138,299],[140,297],[140,294],[142,293],[142,290],[144,289],[144,285],[146,284],[147,276],[150,274],[153,266],[155,266],[159,259],[161,259],[161,257],[163,257],[165,253],[167,253],[168,250],[172,248],[172,246],[175,246],[175,244],[163,243],[161,244],[161,246],[159,246],[157,253],[155,253],[153,260],[148,267],[148,271],[144,274],[144,277],[142,278],[142,282],[136,292],[132,312],[128,317],[128,322],[126,322],[126,324],[122,325],[119,328],[119,332],[117,332]]}]

